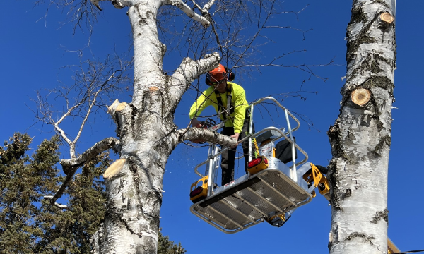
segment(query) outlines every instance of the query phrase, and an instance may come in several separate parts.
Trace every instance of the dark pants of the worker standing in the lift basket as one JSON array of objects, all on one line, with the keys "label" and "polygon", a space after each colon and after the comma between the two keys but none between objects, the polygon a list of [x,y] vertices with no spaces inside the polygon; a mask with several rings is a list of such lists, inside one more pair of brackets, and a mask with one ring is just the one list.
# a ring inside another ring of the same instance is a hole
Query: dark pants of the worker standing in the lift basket
[{"label": "dark pants of the worker standing in the lift basket", "polygon": [[[242,133],[239,135],[239,140],[242,138],[245,138],[247,134],[249,134],[249,121],[250,119],[245,119],[245,122],[243,123]],[[252,126],[253,130],[252,133],[254,133],[254,126]],[[224,127],[223,131],[221,131],[221,134],[223,135],[234,135],[234,128],[233,127]],[[250,138],[247,138],[247,140],[242,142],[243,147],[243,155],[245,155],[245,172],[247,173],[247,162],[249,162],[249,141]],[[222,147],[221,147],[222,148]],[[234,161],[235,161],[235,150],[237,147],[234,147],[233,149],[228,149],[227,151],[223,152],[221,154],[221,169],[222,169],[222,181],[221,186],[230,183],[230,181],[234,180]],[[254,147],[252,144],[252,158],[254,157]]]}]

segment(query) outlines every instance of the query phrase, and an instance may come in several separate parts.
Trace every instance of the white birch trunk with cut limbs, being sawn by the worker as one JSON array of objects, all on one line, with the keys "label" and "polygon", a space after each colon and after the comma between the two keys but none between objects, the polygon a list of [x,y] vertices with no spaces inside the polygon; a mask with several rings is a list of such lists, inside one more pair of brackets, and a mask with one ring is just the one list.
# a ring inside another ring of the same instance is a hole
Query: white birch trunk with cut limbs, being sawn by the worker
[{"label": "white birch trunk with cut limbs, being sawn by the worker", "polygon": [[[166,47],[158,39],[156,14],[163,4],[182,1],[112,1],[128,6],[134,39],[134,95],[131,103],[115,101],[108,112],[117,124],[120,159],[105,173],[107,210],[94,241],[95,253],[156,253],[162,180],[167,159],[182,140],[199,139],[235,145],[210,131],[177,130],[173,113],[190,83],[219,63],[218,54],[184,59],[177,71],[163,73]],[[207,20],[197,17],[200,22]],[[110,174],[109,172],[113,172]]]}]

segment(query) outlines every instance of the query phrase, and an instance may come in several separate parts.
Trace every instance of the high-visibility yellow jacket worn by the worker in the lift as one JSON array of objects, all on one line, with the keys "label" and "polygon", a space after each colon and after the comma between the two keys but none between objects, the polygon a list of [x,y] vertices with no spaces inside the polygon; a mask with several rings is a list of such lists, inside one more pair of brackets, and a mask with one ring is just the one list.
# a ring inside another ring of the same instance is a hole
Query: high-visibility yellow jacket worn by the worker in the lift
[{"label": "high-visibility yellow jacket worn by the worker in the lift", "polygon": [[[246,94],[243,87],[237,85],[236,83],[227,82],[231,85],[231,107],[234,110],[231,110],[231,118],[225,122],[225,126],[234,127],[235,133],[240,133],[243,127],[243,121],[245,121],[246,108],[249,106],[246,100]],[[221,102],[223,103],[223,108],[227,109],[227,92],[220,93]],[[196,102],[193,103],[190,108],[190,119],[193,119],[196,116],[201,114],[206,107],[213,106],[218,113],[218,101],[216,99],[216,94],[213,91],[213,86],[206,89],[202,94],[197,98]],[[220,114],[220,119],[224,121],[222,114]]]}]

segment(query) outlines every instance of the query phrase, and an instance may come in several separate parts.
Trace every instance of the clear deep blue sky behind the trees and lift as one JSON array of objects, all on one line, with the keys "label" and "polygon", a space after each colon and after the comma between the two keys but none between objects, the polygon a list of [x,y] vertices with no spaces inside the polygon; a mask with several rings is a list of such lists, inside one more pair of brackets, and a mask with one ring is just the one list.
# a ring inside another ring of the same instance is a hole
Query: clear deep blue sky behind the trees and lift
[{"label": "clear deep blue sky behind the trees and lift", "polygon": [[[410,6],[406,6],[406,3]],[[97,58],[117,49],[124,52],[131,43],[131,27],[125,10],[117,10],[103,3],[103,11],[91,37],[90,50]],[[283,105],[310,121],[301,122],[295,133],[298,144],[309,155],[310,162],[326,165],[331,159],[326,131],[338,116],[343,85],[341,77],[346,74],[346,25],[350,20],[351,1],[285,1],[287,10],[298,11],[307,4],[299,21],[290,16],[276,18],[273,22],[281,25],[295,25],[302,30],[313,28],[302,35],[290,31],[278,31],[278,43],[262,49],[261,54],[273,57],[277,49],[290,52],[293,49],[307,49],[305,54],[296,54],[290,61],[302,63],[327,63],[334,59],[333,66],[317,68],[318,75],[328,78],[326,82],[312,78],[302,89],[317,91],[304,94],[306,100],[290,97]],[[411,7],[413,6],[413,7]],[[423,30],[420,28],[420,11],[424,2],[418,0],[399,1],[396,10],[397,69],[392,124],[392,143],[389,159],[389,238],[401,250],[424,249],[421,229],[424,226],[423,197],[420,193],[422,169],[418,160],[424,155],[422,115],[424,92],[422,73]],[[57,87],[58,80],[69,82],[68,73],[59,73],[61,66],[78,63],[74,54],[64,49],[81,49],[88,42],[88,33],[76,30],[63,23],[65,13],[52,8],[47,18],[45,6],[34,8],[31,1],[8,1],[8,8],[0,11],[0,95],[4,107],[0,110],[1,140],[7,140],[14,132],[28,132],[35,138],[35,144],[49,138],[53,132],[49,126],[35,124],[30,98],[35,90]],[[40,19],[42,18],[42,19]],[[38,21],[37,21],[38,20]],[[88,56],[90,54],[87,54]],[[165,57],[165,66],[172,68],[181,61],[179,54]],[[308,78],[295,69],[266,68],[252,76],[236,77],[252,102],[270,94],[293,92],[300,89],[302,80]],[[204,77],[201,78],[203,80]],[[206,89],[206,85],[201,87]],[[175,113],[180,128],[188,123],[188,111],[195,93],[184,95]],[[128,95],[119,99],[130,101]],[[259,115],[257,115],[259,117]],[[256,117],[256,116],[255,116]],[[98,140],[114,136],[114,123],[107,116],[87,126],[78,152]],[[264,117],[255,118],[258,126],[269,125]],[[273,116],[276,124],[283,119]],[[313,123],[308,128],[308,123]],[[67,155],[64,155],[68,158]],[[180,241],[187,253],[328,253],[327,243],[331,221],[331,207],[321,196],[310,204],[295,211],[290,220],[281,228],[259,224],[237,234],[223,234],[189,212],[189,186],[198,178],[194,166],[206,159],[206,151],[179,145],[168,160],[161,210],[163,234],[173,241]],[[240,169],[240,172],[242,169]],[[239,173],[241,176],[241,173]]]}]

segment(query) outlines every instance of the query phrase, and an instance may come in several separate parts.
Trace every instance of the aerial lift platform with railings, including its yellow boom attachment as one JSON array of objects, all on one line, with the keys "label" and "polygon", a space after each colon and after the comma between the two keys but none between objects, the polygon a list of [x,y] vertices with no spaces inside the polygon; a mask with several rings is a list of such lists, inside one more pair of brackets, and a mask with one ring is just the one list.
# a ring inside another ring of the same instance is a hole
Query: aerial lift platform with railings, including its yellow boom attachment
[{"label": "aerial lift platform with railings, including its yellow boom attachment", "polygon": [[[329,195],[325,176],[314,164],[307,163],[307,153],[295,143],[293,132],[298,130],[300,122],[276,99],[264,97],[250,105],[249,129],[252,130],[254,107],[264,101],[271,101],[283,110],[286,125],[283,128],[270,126],[247,135],[246,138],[256,141],[257,150],[256,158],[249,158],[247,174],[225,186],[217,186],[220,155],[228,147],[221,150],[215,144],[209,145],[208,159],[194,169],[201,179],[190,189],[190,199],[194,202],[191,212],[228,234],[264,221],[282,226],[295,209],[312,200],[317,186],[320,193]],[[290,119],[295,122],[294,128],[290,126]],[[250,142],[249,155],[253,148]],[[296,162],[298,152],[304,156],[300,162]],[[204,165],[203,175],[198,169]]]}]

